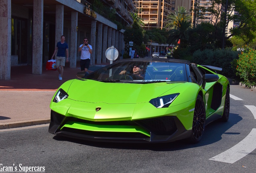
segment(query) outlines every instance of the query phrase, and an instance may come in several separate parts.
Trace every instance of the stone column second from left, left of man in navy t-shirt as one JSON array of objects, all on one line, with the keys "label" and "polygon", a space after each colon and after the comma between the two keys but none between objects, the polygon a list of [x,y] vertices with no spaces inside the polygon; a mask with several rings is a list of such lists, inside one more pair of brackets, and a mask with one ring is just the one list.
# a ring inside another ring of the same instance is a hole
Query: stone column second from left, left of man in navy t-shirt
[{"label": "stone column second from left, left of man in navy t-shirt", "polygon": [[43,0],[34,0],[32,74],[42,74],[42,64],[43,64],[43,46],[42,45],[43,45]]}]

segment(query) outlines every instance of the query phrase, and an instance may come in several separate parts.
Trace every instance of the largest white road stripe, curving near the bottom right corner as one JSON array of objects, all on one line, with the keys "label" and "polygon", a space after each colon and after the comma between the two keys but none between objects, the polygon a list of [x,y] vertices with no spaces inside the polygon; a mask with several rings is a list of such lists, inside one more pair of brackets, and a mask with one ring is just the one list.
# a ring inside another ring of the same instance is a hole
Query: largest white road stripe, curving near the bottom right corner
[{"label": "largest white road stripe, curving near the bottom right corner", "polygon": [[252,129],[249,135],[232,148],[212,157],[209,160],[225,163],[235,163],[256,149],[256,129]]}]

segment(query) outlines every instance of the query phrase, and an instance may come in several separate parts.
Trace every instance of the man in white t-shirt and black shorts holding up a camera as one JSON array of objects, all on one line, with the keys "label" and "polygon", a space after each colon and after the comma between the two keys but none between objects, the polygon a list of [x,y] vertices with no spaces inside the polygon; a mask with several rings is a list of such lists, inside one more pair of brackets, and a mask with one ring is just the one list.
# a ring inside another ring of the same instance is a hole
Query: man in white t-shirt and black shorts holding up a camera
[{"label": "man in white t-shirt and black shorts holding up a camera", "polygon": [[87,70],[90,65],[91,54],[93,52],[93,48],[90,44],[88,44],[87,37],[84,38],[84,44],[81,44],[79,46],[78,51],[79,52],[81,51],[81,60],[80,60],[81,71],[88,73]]}]

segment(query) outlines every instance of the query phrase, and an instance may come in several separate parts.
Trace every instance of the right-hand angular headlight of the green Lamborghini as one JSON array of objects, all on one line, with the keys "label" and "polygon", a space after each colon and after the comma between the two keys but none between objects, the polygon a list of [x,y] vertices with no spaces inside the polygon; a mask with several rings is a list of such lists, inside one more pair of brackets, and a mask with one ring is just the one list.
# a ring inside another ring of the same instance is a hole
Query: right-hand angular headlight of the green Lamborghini
[{"label": "right-hand angular headlight of the green Lamborghini", "polygon": [[178,97],[179,94],[180,93],[175,93],[175,94],[171,94],[171,95],[157,97],[155,99],[151,99],[151,101],[149,101],[149,103],[154,105],[156,108],[169,107],[169,105],[171,105],[171,103],[174,101],[174,99],[176,99],[176,97]]}]

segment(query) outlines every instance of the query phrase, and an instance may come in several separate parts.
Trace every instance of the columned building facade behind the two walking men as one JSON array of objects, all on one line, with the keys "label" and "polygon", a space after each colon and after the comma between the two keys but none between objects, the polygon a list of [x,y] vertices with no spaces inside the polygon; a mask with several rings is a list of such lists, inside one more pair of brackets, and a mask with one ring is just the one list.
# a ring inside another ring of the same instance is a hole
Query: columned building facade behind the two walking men
[{"label": "columned building facade behind the two walking men", "polygon": [[[122,2],[122,3],[121,3]],[[120,22],[131,25],[132,0],[105,0],[116,9]],[[10,80],[10,67],[32,64],[32,74],[42,74],[56,43],[64,35],[68,43],[70,68],[80,60],[77,51],[83,38],[93,46],[91,64],[107,62],[105,50],[124,48],[123,30],[90,8],[85,0],[2,0],[0,8],[0,80]]]}]

